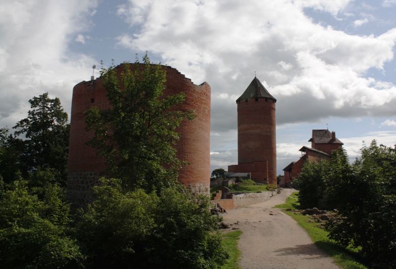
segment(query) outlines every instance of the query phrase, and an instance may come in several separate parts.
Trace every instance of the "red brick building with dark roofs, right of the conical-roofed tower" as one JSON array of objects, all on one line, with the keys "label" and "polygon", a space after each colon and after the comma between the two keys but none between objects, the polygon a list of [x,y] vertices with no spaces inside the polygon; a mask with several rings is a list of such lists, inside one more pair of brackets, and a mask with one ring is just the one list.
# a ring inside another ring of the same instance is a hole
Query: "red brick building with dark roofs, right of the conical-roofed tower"
[{"label": "red brick building with dark roofs, right of the conical-roofed tower", "polygon": [[331,152],[344,144],[336,137],[335,132],[330,132],[329,130],[312,130],[312,137],[308,142],[311,142],[310,148],[303,146],[299,149],[301,158],[283,169],[285,173],[284,185],[287,187],[290,187],[293,178],[296,178],[301,173],[302,166],[307,160],[310,162],[331,161]]}]

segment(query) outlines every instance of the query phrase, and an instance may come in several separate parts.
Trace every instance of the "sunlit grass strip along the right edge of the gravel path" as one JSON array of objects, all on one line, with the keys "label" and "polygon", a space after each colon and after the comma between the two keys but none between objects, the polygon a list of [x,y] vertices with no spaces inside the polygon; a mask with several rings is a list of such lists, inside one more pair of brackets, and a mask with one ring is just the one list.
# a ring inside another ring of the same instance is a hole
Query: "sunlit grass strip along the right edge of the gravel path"
[{"label": "sunlit grass strip along the right edge of the gravel path", "polygon": [[[298,193],[294,192],[292,197],[297,198]],[[308,221],[310,216],[303,216],[301,214],[288,211],[288,209],[297,210],[299,203],[297,200],[288,197],[285,204],[276,205],[274,208],[283,208],[284,213],[291,216],[298,225],[308,232],[314,244],[323,250],[334,262],[343,269],[369,269],[361,264],[358,260],[356,249],[345,249],[336,243],[336,241],[328,238],[328,232],[320,228],[320,224]]]}]

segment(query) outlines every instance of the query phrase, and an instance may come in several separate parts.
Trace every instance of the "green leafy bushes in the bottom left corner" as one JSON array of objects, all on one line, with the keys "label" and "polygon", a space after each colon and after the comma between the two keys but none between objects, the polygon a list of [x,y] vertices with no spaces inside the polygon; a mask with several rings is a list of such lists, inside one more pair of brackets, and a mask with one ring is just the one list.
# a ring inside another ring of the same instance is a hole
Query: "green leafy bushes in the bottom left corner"
[{"label": "green leafy bushes in the bottom left corner", "polygon": [[40,196],[26,181],[0,195],[0,264],[4,268],[80,268],[84,257],[68,235],[69,206],[63,190],[47,184]]}]

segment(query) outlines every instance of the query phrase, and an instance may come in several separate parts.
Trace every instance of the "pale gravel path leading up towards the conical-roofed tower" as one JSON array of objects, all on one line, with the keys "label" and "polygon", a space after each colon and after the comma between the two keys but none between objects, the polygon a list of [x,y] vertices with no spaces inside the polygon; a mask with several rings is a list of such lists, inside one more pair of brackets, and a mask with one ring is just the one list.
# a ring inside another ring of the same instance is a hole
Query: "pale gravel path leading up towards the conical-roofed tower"
[{"label": "pale gravel path leading up towards the conical-roofed tower", "polygon": [[224,223],[244,233],[238,243],[242,269],[339,269],[290,216],[272,207],[292,193],[283,189],[270,200],[228,211]]}]

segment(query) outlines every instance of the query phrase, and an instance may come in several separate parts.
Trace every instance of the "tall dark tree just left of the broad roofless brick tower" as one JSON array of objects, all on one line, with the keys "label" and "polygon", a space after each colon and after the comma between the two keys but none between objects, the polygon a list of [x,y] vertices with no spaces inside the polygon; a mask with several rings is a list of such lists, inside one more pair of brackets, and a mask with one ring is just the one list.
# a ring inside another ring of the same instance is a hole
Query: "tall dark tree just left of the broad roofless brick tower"
[{"label": "tall dark tree just left of the broad roofless brick tower", "polygon": [[[20,152],[20,168],[24,176],[37,170],[51,169],[62,186],[66,184],[70,126],[59,98],[48,92],[29,100],[28,117],[19,121],[10,143]],[[25,140],[17,138],[25,136]]]}]

